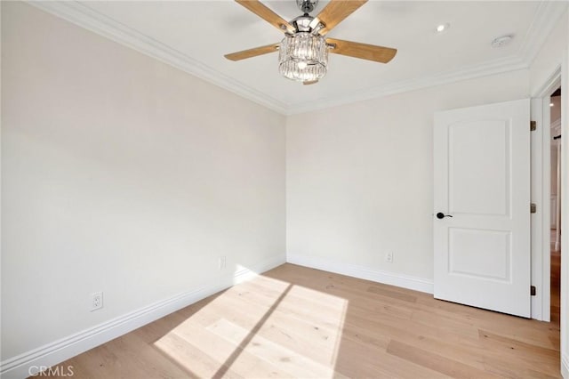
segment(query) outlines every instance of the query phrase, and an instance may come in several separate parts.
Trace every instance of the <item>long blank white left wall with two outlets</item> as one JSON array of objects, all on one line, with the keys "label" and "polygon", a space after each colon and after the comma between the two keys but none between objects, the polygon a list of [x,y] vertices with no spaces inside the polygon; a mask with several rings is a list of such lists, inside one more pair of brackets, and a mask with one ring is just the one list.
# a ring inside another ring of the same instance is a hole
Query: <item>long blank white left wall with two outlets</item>
[{"label": "long blank white left wall with two outlets", "polygon": [[2,359],[284,262],[283,116],[28,4],[2,60]]}]

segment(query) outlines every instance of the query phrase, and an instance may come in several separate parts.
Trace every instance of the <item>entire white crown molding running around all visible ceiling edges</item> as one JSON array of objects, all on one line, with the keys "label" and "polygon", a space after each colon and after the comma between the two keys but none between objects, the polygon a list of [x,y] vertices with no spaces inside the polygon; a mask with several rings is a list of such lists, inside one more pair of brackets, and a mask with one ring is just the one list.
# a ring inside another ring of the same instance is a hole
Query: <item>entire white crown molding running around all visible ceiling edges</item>
[{"label": "entire white crown molding running around all visible ceiling edges", "polygon": [[218,85],[232,93],[254,101],[268,109],[285,116],[305,113],[318,109],[325,109],[357,101],[371,100],[381,96],[396,93],[416,91],[437,85],[447,85],[462,80],[485,77],[518,69],[528,69],[531,62],[539,52],[541,45],[555,27],[557,20],[565,12],[565,2],[551,2],[542,0],[533,18],[532,25],[524,36],[524,41],[517,55],[492,60],[482,64],[473,65],[464,69],[445,71],[428,77],[415,77],[388,85],[364,88],[352,93],[343,94],[316,101],[287,104],[261,93],[252,87],[237,81],[232,77],[220,73],[216,69],[179,52],[172,47],[162,44],[126,25],[96,12],[78,1],[30,1],[28,4],[36,6],[44,12],[49,12],[61,19],[68,20],[82,28],[105,36],[119,44],[124,44],[138,52],[142,52],[156,60],[163,61],[177,69]]}]

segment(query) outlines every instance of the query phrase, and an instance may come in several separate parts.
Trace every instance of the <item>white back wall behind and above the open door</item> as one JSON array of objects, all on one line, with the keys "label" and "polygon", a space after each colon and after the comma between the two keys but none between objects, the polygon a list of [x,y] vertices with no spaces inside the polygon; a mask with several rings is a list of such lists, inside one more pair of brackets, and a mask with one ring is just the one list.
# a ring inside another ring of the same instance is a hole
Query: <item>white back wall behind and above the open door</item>
[{"label": "white back wall behind and above the open door", "polygon": [[288,258],[429,284],[433,113],[527,98],[528,83],[519,70],[288,117]]}]

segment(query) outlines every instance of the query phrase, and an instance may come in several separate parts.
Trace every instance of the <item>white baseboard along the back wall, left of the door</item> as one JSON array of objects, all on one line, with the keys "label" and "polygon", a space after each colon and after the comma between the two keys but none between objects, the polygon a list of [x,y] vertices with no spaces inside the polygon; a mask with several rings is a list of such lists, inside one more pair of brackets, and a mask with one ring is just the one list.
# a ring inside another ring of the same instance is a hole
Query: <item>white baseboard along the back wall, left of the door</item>
[{"label": "white baseboard along the back wall, left of the door", "polygon": [[304,255],[287,254],[286,262],[310,267],[318,270],[335,272],[349,277],[372,280],[374,282],[400,286],[415,291],[433,293],[433,281],[424,278],[416,278],[394,272],[373,270],[350,263],[334,262],[325,258],[317,258]]}]

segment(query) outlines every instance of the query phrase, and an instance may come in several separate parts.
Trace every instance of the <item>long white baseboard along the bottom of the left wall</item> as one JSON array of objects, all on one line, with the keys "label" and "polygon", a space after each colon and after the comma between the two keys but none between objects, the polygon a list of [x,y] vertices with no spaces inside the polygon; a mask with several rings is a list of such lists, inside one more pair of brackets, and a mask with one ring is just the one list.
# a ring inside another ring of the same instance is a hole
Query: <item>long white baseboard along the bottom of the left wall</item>
[{"label": "long white baseboard along the bottom of the left wall", "polygon": [[160,319],[176,310],[220,292],[221,290],[254,278],[260,272],[275,268],[285,262],[284,255],[274,256],[252,265],[251,268],[237,270],[233,275],[212,278],[191,291],[176,294],[168,299],[155,302],[147,307],[111,319],[95,327],[85,329],[75,335],[68,335],[53,343],[45,344],[32,351],[16,357],[5,359],[0,364],[0,376],[6,379],[25,378],[35,375],[40,367],[52,367],[58,363],[88,351],[101,343],[142,327],[149,322]]}]

